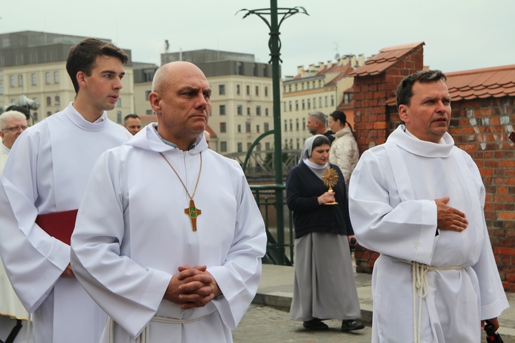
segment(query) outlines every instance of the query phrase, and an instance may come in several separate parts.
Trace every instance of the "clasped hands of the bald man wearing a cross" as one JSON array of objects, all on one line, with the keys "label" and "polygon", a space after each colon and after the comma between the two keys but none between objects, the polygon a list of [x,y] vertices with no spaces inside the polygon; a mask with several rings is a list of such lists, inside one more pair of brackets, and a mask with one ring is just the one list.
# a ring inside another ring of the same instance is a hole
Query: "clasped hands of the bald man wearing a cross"
[{"label": "clasped hands of the bald man wearing a cross", "polygon": [[205,265],[181,265],[179,274],[172,276],[163,298],[182,309],[204,307],[215,296],[221,294],[214,277],[207,272]]}]

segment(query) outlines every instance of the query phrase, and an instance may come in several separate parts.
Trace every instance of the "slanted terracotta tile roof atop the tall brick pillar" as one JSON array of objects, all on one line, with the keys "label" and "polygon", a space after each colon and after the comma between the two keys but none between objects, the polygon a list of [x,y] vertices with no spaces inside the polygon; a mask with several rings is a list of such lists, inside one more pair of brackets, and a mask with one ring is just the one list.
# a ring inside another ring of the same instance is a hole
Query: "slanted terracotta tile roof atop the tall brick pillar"
[{"label": "slanted terracotta tile roof atop the tall brick pillar", "polygon": [[407,45],[397,45],[395,47],[385,47],[379,50],[379,54],[372,56],[365,64],[354,72],[350,73],[350,77],[378,75],[384,73],[389,67],[402,60],[404,56],[411,51],[425,45],[424,42],[411,43]]}]

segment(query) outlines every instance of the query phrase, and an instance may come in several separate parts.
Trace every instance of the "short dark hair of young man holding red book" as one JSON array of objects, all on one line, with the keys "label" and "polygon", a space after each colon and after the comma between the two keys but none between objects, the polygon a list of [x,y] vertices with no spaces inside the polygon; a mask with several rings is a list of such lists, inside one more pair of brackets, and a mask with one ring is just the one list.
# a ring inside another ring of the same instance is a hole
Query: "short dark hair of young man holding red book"
[{"label": "short dark hair of young man holding red book", "polygon": [[82,71],[84,74],[91,76],[98,56],[116,57],[119,58],[123,64],[126,64],[128,61],[127,54],[112,43],[107,43],[104,42],[104,40],[96,38],[81,40],[71,47],[66,60],[66,70],[68,71],[68,75],[70,75],[75,93],[79,91],[77,73]]}]

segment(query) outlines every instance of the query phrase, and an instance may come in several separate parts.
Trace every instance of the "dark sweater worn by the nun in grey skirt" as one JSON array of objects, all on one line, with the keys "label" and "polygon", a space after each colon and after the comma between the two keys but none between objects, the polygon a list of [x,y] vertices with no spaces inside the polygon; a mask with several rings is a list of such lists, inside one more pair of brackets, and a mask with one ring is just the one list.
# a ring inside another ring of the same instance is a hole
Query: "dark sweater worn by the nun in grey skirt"
[{"label": "dark sweater worn by the nun in grey skirt", "polygon": [[335,200],[339,203],[336,205],[319,205],[317,198],[328,191],[328,187],[304,162],[293,167],[288,174],[286,204],[293,211],[295,238],[312,232],[354,235],[343,174],[338,166],[330,166],[339,176],[338,183],[332,188]]}]

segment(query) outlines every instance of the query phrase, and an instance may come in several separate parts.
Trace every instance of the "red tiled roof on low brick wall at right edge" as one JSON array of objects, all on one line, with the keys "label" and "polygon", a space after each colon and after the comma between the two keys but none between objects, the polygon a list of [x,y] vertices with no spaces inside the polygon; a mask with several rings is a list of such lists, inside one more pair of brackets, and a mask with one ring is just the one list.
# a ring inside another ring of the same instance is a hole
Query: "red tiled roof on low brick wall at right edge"
[{"label": "red tiled roof on low brick wall at right edge", "polygon": [[515,64],[446,73],[453,102],[483,97],[515,97]]}]

